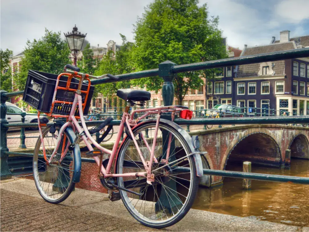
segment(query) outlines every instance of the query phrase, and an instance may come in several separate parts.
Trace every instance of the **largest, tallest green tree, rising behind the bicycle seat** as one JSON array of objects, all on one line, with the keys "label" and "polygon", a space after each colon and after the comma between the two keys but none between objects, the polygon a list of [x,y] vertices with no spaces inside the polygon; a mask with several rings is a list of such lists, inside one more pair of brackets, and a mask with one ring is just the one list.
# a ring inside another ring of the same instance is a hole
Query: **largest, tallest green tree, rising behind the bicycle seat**
[{"label": "largest, tallest green tree, rising behind the bicycle seat", "polygon": [[[197,4],[197,0],[155,0],[145,8],[134,25],[137,71],[158,68],[166,60],[181,65],[226,58],[218,17],[209,19],[206,4]],[[180,103],[189,88],[198,89],[203,84],[200,75],[212,78],[214,70],[179,73],[174,79]],[[163,79],[151,77],[133,83],[158,91]]]}]

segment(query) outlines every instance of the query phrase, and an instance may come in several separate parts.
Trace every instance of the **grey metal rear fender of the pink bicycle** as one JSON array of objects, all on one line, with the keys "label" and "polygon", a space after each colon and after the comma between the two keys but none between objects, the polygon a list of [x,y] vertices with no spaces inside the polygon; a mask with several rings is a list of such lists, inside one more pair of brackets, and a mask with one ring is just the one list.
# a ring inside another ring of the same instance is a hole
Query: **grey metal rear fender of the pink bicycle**
[{"label": "grey metal rear fender of the pink bicycle", "polygon": [[[136,127],[141,126],[142,124],[144,124],[146,122],[156,122],[156,121],[157,121],[157,119],[147,119],[145,121],[142,121],[142,122],[138,123],[136,126],[134,126],[132,128],[132,131],[134,131],[134,129]],[[194,158],[195,167],[196,167],[196,175],[197,176],[203,176],[204,174],[203,174],[203,164],[202,164],[201,154],[200,154],[199,150],[194,147],[193,140],[192,140],[191,136],[188,134],[188,132],[185,131],[182,127],[180,127],[175,122],[172,122],[172,121],[167,120],[167,119],[160,118],[160,123],[164,123],[164,124],[167,124],[171,127],[174,127],[184,137],[184,139],[187,140],[188,145],[189,145],[189,149],[190,149],[189,153],[193,153],[193,158]],[[125,136],[125,138],[126,138],[126,136]],[[120,147],[118,149],[118,153],[121,150],[121,146],[124,143],[125,138],[122,140],[122,142],[120,144]],[[117,163],[118,153],[116,155],[115,164]]]}]

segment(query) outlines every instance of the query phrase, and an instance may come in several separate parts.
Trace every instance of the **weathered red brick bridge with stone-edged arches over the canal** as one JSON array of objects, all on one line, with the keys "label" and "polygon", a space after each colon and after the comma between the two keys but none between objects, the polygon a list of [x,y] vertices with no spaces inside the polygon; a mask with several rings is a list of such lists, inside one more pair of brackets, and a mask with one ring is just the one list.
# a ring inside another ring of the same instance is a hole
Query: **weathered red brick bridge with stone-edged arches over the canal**
[{"label": "weathered red brick bridge with stone-edged arches over the canal", "polygon": [[[282,168],[290,156],[309,159],[309,128],[286,125],[239,125],[191,132],[198,135],[200,150],[207,151],[204,167],[225,170],[227,161]],[[290,156],[286,150],[290,149]],[[286,155],[287,154],[287,155]],[[221,184],[222,177],[211,176],[206,186]]]}]

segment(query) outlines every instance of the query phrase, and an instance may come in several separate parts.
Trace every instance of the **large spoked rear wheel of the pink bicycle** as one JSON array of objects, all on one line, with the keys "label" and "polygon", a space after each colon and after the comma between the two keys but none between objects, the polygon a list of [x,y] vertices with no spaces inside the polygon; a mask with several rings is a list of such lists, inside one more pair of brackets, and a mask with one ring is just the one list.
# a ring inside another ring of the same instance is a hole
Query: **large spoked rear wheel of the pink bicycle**
[{"label": "large spoked rear wheel of the pink bicycle", "polygon": [[[133,131],[145,161],[150,161],[149,150],[153,145],[155,126],[155,120],[145,122]],[[146,177],[117,178],[119,186],[138,193],[119,190],[129,213],[149,227],[164,228],[180,221],[191,208],[197,192],[198,179],[194,159],[192,156],[185,157],[190,154],[190,148],[177,129],[181,127],[178,128],[176,124],[175,128],[165,123],[159,124],[155,143],[155,157],[158,162],[152,164],[152,174],[155,177],[151,185],[146,183]],[[166,163],[164,159],[168,150],[169,159]],[[133,140],[128,136],[118,155],[118,174],[145,171]],[[165,164],[167,166],[163,166]]]}]

